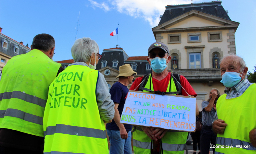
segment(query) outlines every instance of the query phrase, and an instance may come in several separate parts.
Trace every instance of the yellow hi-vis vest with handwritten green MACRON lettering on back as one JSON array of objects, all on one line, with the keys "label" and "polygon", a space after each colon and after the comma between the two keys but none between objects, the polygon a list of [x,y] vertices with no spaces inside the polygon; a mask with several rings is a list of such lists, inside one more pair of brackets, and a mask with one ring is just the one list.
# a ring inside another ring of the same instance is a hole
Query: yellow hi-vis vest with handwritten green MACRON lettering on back
[{"label": "yellow hi-vis vest with handwritten green MACRON lettering on back", "polygon": [[49,87],[44,153],[107,154],[106,129],[96,102],[99,71],[71,65]]}]

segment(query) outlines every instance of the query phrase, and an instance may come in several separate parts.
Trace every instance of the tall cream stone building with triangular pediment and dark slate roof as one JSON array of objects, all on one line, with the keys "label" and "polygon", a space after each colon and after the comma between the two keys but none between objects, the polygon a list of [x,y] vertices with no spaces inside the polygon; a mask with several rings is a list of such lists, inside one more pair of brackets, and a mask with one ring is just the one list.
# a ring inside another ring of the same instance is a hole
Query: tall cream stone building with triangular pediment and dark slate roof
[{"label": "tall cream stone building with triangular pediment and dark slate roof", "polygon": [[156,41],[165,43],[170,50],[168,68],[188,79],[201,108],[210,89],[217,88],[224,94],[219,59],[236,53],[234,34],[239,23],[231,21],[221,1],[165,8],[159,25],[152,31]]}]

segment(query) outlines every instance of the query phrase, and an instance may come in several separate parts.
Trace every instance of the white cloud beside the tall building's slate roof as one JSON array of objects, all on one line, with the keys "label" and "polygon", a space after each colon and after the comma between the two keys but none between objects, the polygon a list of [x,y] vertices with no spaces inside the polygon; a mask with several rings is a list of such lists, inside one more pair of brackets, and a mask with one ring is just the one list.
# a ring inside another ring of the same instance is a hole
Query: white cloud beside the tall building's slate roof
[{"label": "white cloud beside the tall building's slate roof", "polygon": [[[96,2],[99,0],[89,1],[92,7],[99,7],[104,11],[109,11],[112,8],[134,18],[143,18],[149,22],[151,27],[158,25],[160,21],[159,16],[164,14],[165,6],[191,3],[191,0],[108,0],[101,3]],[[193,3],[199,1],[201,0],[194,0]]]}]

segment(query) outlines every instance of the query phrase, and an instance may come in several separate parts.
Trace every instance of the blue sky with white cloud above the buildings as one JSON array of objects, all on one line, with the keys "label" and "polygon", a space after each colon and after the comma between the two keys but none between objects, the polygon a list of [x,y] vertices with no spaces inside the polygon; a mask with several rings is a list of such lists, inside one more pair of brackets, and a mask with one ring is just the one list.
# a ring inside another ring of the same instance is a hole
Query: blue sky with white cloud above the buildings
[{"label": "blue sky with white cloud above the buildings", "polygon": [[[193,0],[193,3],[211,2]],[[116,43],[129,56],[145,56],[155,42],[152,29],[157,26],[166,5],[188,4],[191,0],[9,0],[1,1],[0,27],[2,34],[24,45],[32,44],[40,33],[52,35],[56,41],[54,61],[72,59],[71,46],[77,38],[91,37],[103,49],[114,48]],[[256,65],[256,1],[223,0],[232,21],[240,22],[235,33],[237,55],[244,58],[249,71]],[[110,33],[118,27],[117,35]]]}]

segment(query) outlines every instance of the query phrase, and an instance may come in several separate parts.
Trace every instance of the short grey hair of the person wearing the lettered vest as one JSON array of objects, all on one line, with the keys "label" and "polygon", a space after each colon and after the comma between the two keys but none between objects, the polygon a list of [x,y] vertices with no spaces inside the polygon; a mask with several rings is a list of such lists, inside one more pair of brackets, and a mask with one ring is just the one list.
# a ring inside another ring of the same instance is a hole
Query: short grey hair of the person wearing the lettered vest
[{"label": "short grey hair of the person wearing the lettered vest", "polygon": [[98,44],[89,37],[77,39],[71,48],[71,54],[74,62],[89,62],[91,55],[98,52]]}]

